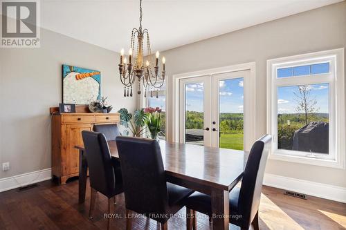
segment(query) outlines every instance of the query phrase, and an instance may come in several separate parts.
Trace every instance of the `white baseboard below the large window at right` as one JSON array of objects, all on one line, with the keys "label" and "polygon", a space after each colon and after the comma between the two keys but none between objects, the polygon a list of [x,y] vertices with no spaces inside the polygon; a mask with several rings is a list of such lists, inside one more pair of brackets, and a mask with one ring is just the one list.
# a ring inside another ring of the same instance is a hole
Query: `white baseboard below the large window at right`
[{"label": "white baseboard below the large window at right", "polygon": [[263,184],[278,189],[295,191],[298,193],[313,195],[318,198],[346,203],[346,188],[340,186],[311,182],[308,180],[299,180],[295,178],[286,178],[271,173],[264,174]]}]

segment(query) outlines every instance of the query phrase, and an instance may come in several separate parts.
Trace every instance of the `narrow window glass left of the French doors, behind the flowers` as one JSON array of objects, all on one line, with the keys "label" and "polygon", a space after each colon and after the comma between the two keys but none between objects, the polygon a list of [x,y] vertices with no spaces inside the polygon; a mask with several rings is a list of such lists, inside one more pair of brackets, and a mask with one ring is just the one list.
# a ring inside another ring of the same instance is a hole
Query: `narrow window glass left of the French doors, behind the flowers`
[{"label": "narrow window glass left of the French doors, behind the flowers", "polygon": [[161,132],[158,133],[158,138],[165,139],[166,136],[166,87],[165,84],[157,90],[157,97],[156,97],[156,91],[153,92],[153,95],[147,95],[147,106],[148,107],[159,107],[162,109],[161,112]]}]

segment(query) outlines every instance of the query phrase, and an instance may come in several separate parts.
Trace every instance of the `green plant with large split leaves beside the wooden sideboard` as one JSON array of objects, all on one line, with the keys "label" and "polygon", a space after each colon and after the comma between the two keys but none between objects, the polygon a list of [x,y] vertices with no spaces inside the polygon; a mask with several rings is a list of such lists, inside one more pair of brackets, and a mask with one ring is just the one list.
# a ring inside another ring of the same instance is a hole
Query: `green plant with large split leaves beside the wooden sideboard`
[{"label": "green plant with large split leaves beside the wooden sideboard", "polygon": [[134,137],[140,137],[145,133],[147,114],[144,113],[143,109],[134,111],[134,115],[132,115],[126,108],[120,108],[118,113],[120,114],[120,125],[129,130]]}]

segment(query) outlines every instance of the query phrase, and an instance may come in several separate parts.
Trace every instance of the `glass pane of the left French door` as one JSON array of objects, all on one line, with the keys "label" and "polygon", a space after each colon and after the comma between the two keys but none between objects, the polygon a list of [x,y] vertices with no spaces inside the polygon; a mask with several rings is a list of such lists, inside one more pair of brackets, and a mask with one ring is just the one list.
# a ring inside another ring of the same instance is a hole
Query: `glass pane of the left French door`
[{"label": "glass pane of the left French door", "polygon": [[203,145],[203,83],[185,84],[185,142]]}]

